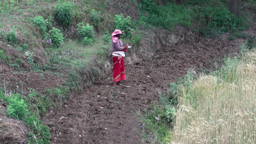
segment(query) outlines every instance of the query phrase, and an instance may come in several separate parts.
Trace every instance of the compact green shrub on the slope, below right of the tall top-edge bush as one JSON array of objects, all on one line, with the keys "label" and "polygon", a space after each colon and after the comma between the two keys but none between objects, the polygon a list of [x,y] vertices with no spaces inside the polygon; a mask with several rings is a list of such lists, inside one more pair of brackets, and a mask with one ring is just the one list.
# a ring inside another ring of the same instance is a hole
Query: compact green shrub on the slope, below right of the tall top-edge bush
[{"label": "compact green shrub on the slope, below right of the tall top-edge bush", "polygon": [[79,22],[78,23],[78,28],[77,28],[77,31],[78,31],[78,35],[84,39],[84,37],[88,37],[90,39],[93,39],[94,38],[94,27],[93,26],[90,26],[89,23],[85,23],[84,22]]}]

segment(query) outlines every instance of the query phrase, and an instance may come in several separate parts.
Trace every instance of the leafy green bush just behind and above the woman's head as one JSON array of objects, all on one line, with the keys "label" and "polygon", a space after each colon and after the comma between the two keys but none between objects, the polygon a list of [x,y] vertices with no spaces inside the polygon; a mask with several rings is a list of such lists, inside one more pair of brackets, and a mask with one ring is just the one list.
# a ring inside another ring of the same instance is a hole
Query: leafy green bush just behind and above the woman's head
[{"label": "leafy green bush just behind and above the woman's head", "polygon": [[115,28],[120,29],[125,37],[131,37],[135,23],[130,16],[125,18],[123,14],[115,15],[114,23]]}]

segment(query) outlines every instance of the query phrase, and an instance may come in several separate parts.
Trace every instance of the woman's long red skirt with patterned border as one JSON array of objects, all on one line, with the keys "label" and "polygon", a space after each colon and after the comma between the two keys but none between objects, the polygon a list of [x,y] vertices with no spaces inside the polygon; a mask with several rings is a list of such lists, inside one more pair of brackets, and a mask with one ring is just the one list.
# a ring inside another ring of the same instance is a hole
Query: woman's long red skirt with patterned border
[{"label": "woman's long red skirt with patterned border", "polygon": [[113,56],[112,61],[113,61],[113,81],[117,82],[120,80],[126,80],[124,58]]}]

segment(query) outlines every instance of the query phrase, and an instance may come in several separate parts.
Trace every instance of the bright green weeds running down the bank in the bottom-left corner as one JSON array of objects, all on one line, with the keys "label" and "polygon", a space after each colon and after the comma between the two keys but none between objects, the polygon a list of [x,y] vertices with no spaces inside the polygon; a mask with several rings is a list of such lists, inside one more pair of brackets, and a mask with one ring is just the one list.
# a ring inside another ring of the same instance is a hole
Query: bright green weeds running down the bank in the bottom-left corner
[{"label": "bright green weeds running down the bank in the bottom-left corner", "polygon": [[[34,92],[34,91],[33,91]],[[34,106],[28,106],[25,101],[30,101],[32,104],[37,97],[30,94],[28,98],[24,97],[19,93],[5,96],[5,94],[0,91],[0,100],[7,101],[7,115],[16,119],[21,119],[24,121],[28,127],[31,128],[30,137],[28,138],[28,143],[50,143],[49,142],[49,128],[42,124],[38,117],[34,116],[36,113],[33,111]],[[37,99],[39,100],[39,99]],[[45,101],[42,101],[45,102]],[[33,104],[39,106],[38,104]],[[43,103],[45,105],[45,103]],[[32,111],[28,111],[32,110]],[[45,109],[44,109],[45,110]]]}]

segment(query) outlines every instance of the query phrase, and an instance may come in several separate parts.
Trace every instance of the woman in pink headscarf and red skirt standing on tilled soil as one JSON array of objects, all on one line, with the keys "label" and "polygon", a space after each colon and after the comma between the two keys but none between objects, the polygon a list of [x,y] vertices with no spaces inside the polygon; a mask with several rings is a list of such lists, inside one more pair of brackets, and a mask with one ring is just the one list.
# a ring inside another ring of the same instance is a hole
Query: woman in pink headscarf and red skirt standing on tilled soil
[{"label": "woman in pink headscarf and red skirt standing on tilled soil", "polygon": [[128,45],[123,46],[123,42],[120,40],[122,32],[119,29],[115,29],[112,33],[112,61],[113,61],[113,86],[117,86],[117,82],[120,80],[126,80],[125,77],[125,65],[124,65],[124,52]]}]

